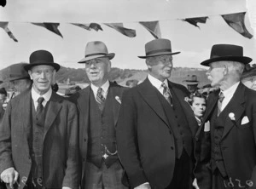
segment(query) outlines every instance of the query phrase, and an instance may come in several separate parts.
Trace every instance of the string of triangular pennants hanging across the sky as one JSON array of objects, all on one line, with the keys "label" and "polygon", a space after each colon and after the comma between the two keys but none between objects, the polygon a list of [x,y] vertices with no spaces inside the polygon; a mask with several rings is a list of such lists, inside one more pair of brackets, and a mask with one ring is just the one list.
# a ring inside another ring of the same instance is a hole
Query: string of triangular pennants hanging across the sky
[{"label": "string of triangular pennants hanging across the sky", "polygon": [[[246,12],[241,13],[235,13],[235,14],[221,14],[224,21],[235,31],[240,33],[243,37],[252,38],[253,35],[247,31],[247,28],[244,23]],[[196,18],[186,18],[183,19],[183,21],[188,22],[189,24],[196,26],[200,28],[197,24],[206,24],[207,23],[208,16],[206,17],[196,17]],[[154,38],[160,38],[161,32],[160,32],[160,24],[159,20],[154,21],[140,21],[138,22],[140,25],[142,25],[147,31],[149,31]],[[43,23],[34,23],[31,24],[35,26],[41,26],[45,29],[54,32],[56,35],[63,38],[61,35],[61,31],[59,31],[58,27],[60,26],[60,23],[52,23],[52,22],[43,22]],[[81,24],[81,23],[69,23],[73,26],[79,26],[81,28],[84,28],[87,31],[103,31],[102,26],[97,23],[90,23],[90,24]],[[103,23],[105,26],[109,26],[113,28],[113,30],[118,31],[119,33],[125,35],[126,37],[136,37],[136,30],[126,28],[123,23]],[[12,38],[15,42],[18,42],[18,40],[15,38],[12,31],[9,30],[9,22],[1,22],[0,21],[0,27],[3,28],[3,30],[9,35],[10,38]]]}]

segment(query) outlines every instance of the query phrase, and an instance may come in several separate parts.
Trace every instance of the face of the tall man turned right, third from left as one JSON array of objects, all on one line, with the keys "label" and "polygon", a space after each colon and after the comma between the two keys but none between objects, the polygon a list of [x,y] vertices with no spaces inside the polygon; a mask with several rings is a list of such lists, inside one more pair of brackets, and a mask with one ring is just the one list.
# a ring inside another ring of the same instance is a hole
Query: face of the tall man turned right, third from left
[{"label": "face of the tall man turned right, third from left", "polygon": [[160,81],[171,77],[172,73],[172,55],[155,56],[148,64],[151,75]]}]

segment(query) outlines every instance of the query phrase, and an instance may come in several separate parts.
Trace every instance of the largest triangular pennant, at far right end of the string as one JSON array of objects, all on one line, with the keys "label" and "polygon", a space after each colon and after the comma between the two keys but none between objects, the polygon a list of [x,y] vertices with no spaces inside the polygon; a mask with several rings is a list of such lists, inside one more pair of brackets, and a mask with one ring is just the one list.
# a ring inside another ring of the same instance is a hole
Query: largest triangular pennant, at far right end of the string
[{"label": "largest triangular pennant, at far right end of the string", "polygon": [[253,35],[247,31],[247,28],[244,24],[245,14],[246,12],[242,12],[235,14],[223,14],[221,16],[230,27],[239,32],[242,36],[252,38]]}]

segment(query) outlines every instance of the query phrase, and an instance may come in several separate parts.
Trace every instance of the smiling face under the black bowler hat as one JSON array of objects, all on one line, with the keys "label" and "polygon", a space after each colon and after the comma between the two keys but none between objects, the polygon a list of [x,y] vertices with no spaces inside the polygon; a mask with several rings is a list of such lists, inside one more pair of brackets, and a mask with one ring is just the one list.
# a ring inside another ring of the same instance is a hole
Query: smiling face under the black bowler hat
[{"label": "smiling face under the black bowler hat", "polygon": [[55,72],[53,66],[32,66],[28,73],[33,80],[33,89],[40,95],[45,94],[55,79]]}]

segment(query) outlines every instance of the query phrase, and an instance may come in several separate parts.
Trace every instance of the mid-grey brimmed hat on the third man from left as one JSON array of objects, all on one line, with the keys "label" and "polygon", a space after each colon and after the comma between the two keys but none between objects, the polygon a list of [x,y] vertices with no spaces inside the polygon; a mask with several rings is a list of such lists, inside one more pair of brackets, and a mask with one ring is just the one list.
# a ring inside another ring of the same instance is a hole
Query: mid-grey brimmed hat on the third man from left
[{"label": "mid-grey brimmed hat on the third man from left", "polygon": [[152,56],[179,54],[180,52],[172,53],[171,41],[165,38],[154,39],[145,44],[145,56],[138,56],[141,59],[146,59]]}]

